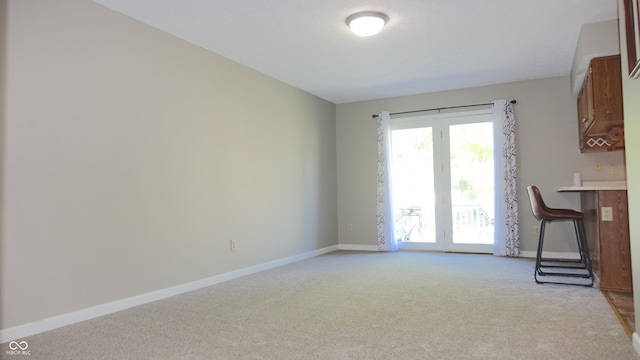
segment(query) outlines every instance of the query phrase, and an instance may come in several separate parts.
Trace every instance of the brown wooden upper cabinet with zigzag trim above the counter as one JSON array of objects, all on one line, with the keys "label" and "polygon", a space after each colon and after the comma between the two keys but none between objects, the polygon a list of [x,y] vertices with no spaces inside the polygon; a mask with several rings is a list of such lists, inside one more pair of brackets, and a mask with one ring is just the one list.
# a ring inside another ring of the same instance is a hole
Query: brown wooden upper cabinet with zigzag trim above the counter
[{"label": "brown wooden upper cabinet with zigzag trim above the counter", "polygon": [[624,149],[620,55],[594,58],[578,95],[580,151]]}]

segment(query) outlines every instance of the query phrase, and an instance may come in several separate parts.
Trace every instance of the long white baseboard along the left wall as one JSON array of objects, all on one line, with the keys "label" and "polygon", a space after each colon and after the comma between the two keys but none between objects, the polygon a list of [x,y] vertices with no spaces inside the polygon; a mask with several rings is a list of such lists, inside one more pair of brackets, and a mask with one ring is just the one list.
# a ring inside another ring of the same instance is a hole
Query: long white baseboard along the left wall
[{"label": "long white baseboard along the left wall", "polygon": [[[166,289],[156,290],[133,296],[126,299],[116,300],[106,304],[92,306],[87,309],[74,311],[72,313],[53,316],[47,319],[35,321],[32,323],[18,325],[15,327],[0,330],[0,343],[5,343],[27,336],[39,334],[45,331],[75,324],[81,321],[97,318],[99,316],[122,311],[134,306],[143,305],[157,300],[166,299],[171,296],[179,295],[193,290],[202,289],[207,286],[219,284],[225,281],[237,279],[246,275],[255,274],[264,270],[277,268],[283,265],[291,264],[300,260],[309,259],[318,255],[327,254],[339,250],[339,245],[333,245],[326,248],[278,259],[247,268],[231,271],[228,273],[212,276],[209,278],[188,282],[185,284],[173,286]],[[376,248],[377,249],[377,248]]]}]

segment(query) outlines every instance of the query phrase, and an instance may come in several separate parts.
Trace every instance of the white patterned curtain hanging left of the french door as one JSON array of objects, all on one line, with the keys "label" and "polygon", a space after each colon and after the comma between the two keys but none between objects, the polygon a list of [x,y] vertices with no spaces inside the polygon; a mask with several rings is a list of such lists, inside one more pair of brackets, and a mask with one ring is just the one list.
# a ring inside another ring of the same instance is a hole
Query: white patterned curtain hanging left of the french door
[{"label": "white patterned curtain hanging left of the french door", "polygon": [[378,114],[378,249],[398,250],[395,236],[393,204],[391,202],[391,115]]}]

